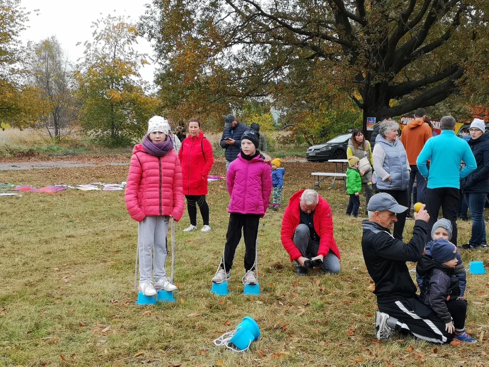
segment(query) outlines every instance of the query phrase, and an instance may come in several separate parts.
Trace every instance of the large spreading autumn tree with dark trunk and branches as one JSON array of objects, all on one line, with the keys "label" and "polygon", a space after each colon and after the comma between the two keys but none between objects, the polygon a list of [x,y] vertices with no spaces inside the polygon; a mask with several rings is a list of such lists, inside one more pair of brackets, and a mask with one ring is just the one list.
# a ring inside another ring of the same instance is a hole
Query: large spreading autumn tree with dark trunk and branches
[{"label": "large spreading autumn tree with dark trunk and branches", "polygon": [[180,104],[209,111],[270,95],[293,110],[347,96],[365,128],[366,117],[433,106],[459,89],[486,3],[157,0],[141,24],[166,60],[157,82]]}]

